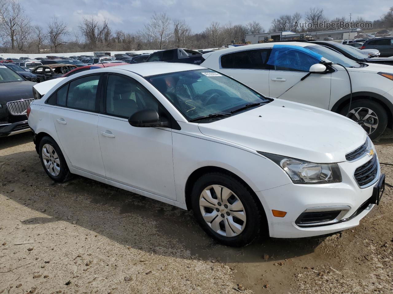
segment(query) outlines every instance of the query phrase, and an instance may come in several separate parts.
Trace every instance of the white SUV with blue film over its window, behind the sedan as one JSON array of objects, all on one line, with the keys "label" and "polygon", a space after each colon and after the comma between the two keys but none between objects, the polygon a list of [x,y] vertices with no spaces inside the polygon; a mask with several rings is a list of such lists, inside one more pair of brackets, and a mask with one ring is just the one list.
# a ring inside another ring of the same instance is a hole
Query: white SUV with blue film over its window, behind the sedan
[{"label": "white SUV with blue film over its window, behind the sedan", "polygon": [[[349,114],[371,139],[380,136],[386,126],[393,126],[391,65],[355,62],[334,50],[308,42],[247,45],[206,53],[203,57],[206,60],[202,66],[232,76],[265,96]],[[325,71],[301,81],[311,65],[320,63],[326,65]],[[349,113],[349,78],[339,64],[345,66],[351,76],[353,100]]]}]

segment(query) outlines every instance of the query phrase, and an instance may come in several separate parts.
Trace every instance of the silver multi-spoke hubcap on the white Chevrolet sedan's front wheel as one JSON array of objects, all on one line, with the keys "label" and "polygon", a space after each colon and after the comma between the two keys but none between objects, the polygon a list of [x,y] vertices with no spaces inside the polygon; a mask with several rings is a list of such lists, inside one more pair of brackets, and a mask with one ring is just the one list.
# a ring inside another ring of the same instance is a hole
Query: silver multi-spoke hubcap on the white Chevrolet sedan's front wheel
[{"label": "silver multi-spoke hubcap on the white Chevrolet sedan's front wheel", "polygon": [[246,226],[243,203],[224,186],[206,187],[200,194],[199,207],[209,227],[222,236],[237,236]]}]

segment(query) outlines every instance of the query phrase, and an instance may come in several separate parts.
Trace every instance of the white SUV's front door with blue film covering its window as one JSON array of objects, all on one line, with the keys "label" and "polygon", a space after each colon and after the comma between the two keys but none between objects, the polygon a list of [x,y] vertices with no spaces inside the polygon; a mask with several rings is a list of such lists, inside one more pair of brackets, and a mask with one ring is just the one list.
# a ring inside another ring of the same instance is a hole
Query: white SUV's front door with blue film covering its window
[{"label": "white SUV's front door with blue film covering its window", "polygon": [[[270,97],[328,109],[331,91],[330,73],[311,74],[299,82],[309,73],[311,65],[319,62],[320,60],[302,50],[274,47],[268,61]],[[283,94],[285,91],[287,92]],[[280,96],[281,94],[283,95]]]}]

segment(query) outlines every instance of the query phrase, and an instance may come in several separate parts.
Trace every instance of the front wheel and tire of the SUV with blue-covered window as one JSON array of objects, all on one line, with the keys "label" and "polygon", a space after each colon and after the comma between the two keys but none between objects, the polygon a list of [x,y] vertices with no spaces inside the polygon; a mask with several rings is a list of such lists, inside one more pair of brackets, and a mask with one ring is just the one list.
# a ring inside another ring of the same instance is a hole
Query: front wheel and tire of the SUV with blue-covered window
[{"label": "front wheel and tire of the SUV with blue-covered window", "polygon": [[[346,116],[349,104],[345,105],[340,114]],[[371,115],[368,115],[370,114]],[[371,140],[378,138],[387,126],[387,113],[378,102],[360,99],[351,103],[348,118],[354,120],[367,132]],[[365,118],[365,119],[364,119]],[[376,125],[376,127],[375,127]],[[371,126],[371,127],[370,127]]]}]

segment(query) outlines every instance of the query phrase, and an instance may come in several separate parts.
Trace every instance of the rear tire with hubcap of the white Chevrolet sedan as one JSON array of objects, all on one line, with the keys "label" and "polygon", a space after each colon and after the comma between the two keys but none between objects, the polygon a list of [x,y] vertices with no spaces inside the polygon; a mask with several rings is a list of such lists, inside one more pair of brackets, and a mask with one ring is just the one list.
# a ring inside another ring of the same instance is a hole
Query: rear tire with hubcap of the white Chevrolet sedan
[{"label": "rear tire with hubcap of the white Chevrolet sedan", "polygon": [[51,137],[41,139],[39,156],[44,171],[53,181],[63,183],[72,177],[59,145]]}]

